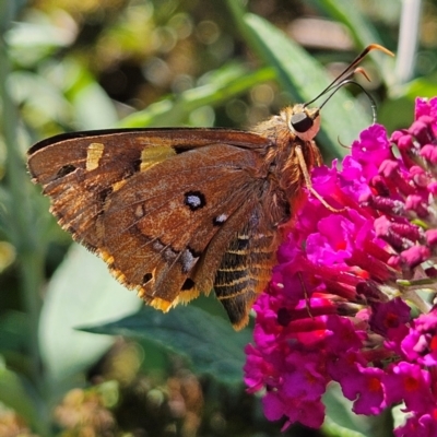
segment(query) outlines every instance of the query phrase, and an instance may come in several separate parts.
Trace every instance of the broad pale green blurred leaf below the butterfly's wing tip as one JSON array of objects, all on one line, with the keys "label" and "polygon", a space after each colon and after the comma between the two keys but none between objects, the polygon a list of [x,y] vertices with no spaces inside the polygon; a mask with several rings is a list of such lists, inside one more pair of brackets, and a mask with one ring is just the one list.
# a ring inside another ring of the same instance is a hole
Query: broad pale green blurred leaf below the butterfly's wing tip
[{"label": "broad pale green blurred leaf below the butterfly's wing tip", "polygon": [[118,319],[141,305],[101,259],[73,245],[48,285],[40,316],[39,342],[51,388],[68,386],[113,344],[109,336],[76,331],[78,326]]}]

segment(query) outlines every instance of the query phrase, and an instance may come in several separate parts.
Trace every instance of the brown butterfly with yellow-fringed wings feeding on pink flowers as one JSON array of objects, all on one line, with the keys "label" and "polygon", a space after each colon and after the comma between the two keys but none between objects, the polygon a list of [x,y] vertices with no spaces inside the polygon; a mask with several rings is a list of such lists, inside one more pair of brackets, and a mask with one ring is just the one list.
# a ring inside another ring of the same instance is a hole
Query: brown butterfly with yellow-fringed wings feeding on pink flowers
[{"label": "brown butterfly with yellow-fringed wings feeding on pink flowers", "polygon": [[[356,70],[368,46],[318,97]],[[331,95],[332,95],[331,94]],[[167,311],[214,290],[235,329],[248,322],[282,229],[321,164],[320,107],[298,104],[256,126],[59,134],[28,150],[28,169],[73,238],[149,305]],[[316,193],[317,194],[317,193]]]}]

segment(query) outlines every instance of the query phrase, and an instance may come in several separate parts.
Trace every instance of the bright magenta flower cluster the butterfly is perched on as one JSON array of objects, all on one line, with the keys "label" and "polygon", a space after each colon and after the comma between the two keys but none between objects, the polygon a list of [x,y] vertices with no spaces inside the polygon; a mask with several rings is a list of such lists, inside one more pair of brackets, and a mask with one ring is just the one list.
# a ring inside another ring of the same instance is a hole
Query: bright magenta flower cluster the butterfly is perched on
[{"label": "bright magenta flower cluster the butterfly is perched on", "polygon": [[336,381],[357,414],[403,403],[401,436],[437,436],[437,98],[391,138],[361,133],[316,168],[295,227],[257,300],[249,391],[269,420],[319,427]]}]

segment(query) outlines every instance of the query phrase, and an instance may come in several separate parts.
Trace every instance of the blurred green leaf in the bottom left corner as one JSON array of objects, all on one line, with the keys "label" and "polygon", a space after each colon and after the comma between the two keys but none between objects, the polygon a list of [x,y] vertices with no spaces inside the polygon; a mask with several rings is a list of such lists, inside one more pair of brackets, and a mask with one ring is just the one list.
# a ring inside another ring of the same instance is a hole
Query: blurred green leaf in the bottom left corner
[{"label": "blurred green leaf in the bottom left corner", "polygon": [[29,387],[17,374],[9,370],[0,359],[0,401],[13,409],[40,435],[48,435],[45,425],[46,412],[39,408],[42,403],[38,406],[36,395],[29,392]]}]

